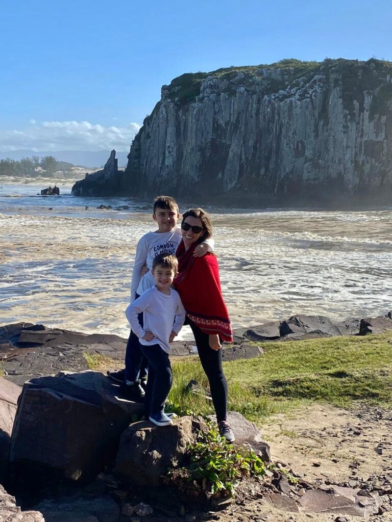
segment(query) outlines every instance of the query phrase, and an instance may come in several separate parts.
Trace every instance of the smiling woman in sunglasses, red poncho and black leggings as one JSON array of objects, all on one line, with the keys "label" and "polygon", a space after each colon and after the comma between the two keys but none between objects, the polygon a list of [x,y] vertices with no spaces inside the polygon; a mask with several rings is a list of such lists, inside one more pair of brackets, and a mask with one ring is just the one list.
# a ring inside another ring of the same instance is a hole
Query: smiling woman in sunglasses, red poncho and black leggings
[{"label": "smiling woman in sunglasses, red poncho and black leggings", "polygon": [[212,236],[210,217],[202,208],[191,208],[182,217],[181,230],[182,241],[176,252],[179,273],[174,283],[210,382],[219,432],[228,442],[234,442],[234,433],[226,421],[227,381],[221,350],[221,340],[233,341],[233,335],[222,297],[218,262],[213,253],[193,257],[194,249]]}]

